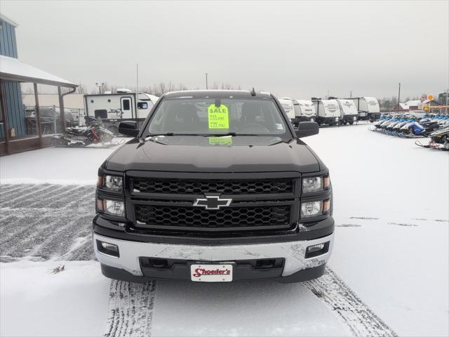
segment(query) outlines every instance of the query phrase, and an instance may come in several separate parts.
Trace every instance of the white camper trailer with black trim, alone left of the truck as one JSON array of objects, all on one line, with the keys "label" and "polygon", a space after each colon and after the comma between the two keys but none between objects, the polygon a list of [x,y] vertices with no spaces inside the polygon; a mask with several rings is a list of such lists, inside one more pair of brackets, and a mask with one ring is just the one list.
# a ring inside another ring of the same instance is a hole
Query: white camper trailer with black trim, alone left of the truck
[{"label": "white camper trailer with black trim, alone left of the truck", "polygon": [[[86,123],[100,118],[110,131],[118,134],[121,121],[142,123],[152,110],[158,97],[148,93],[137,94],[128,89],[117,89],[116,93],[84,95]],[[136,112],[137,105],[137,112]]]}]

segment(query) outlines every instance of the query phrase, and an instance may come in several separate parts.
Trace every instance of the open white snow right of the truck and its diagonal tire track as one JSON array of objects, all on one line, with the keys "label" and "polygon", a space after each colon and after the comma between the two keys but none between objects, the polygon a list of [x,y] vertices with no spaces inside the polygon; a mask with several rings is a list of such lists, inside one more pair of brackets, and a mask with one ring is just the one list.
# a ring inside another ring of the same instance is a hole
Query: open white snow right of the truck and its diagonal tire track
[{"label": "open white snow right of the truck and its diagonal tire track", "polygon": [[363,125],[306,142],[334,187],[330,267],[400,336],[448,336],[448,152]]}]

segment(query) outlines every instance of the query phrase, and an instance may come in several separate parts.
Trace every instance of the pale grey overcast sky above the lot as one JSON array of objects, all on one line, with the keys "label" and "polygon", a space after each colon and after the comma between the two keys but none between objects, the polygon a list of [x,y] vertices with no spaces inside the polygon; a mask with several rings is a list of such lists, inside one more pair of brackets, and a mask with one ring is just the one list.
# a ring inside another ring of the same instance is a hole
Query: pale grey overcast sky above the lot
[{"label": "pale grey overcast sky above the lot", "polygon": [[6,1],[20,60],[82,82],[229,83],[279,96],[438,94],[449,1]]}]

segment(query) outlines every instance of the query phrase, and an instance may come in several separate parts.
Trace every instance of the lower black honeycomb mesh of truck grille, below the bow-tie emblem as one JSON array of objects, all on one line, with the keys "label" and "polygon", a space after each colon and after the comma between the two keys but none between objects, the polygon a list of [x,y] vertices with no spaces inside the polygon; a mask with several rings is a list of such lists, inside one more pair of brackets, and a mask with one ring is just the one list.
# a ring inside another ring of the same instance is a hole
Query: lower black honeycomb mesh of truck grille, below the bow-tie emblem
[{"label": "lower black honeycomb mesh of truck grille, below the bow-tie emblem", "polygon": [[228,207],[208,211],[198,207],[135,206],[136,220],[147,225],[198,228],[236,228],[288,225],[290,206]]}]

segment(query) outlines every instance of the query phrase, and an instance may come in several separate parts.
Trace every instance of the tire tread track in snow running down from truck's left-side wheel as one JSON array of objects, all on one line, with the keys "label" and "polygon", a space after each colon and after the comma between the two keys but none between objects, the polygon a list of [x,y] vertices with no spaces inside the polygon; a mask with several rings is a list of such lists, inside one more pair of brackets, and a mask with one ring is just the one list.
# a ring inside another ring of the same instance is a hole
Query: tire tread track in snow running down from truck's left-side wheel
[{"label": "tire tread track in snow running down from truck's left-side wheel", "polygon": [[152,331],[156,282],[112,280],[106,337],[149,337]]}]

